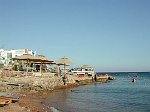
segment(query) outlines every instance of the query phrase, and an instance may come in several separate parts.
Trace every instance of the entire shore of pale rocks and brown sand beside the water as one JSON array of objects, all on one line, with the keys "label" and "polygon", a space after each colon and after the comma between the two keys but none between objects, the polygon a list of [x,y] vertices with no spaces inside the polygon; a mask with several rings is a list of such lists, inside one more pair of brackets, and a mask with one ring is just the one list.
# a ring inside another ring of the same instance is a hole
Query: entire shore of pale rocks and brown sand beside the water
[{"label": "entire shore of pale rocks and brown sand beside the water", "polygon": [[[93,78],[79,78],[67,75],[67,82],[64,85],[63,79],[53,73],[45,73],[41,76],[6,76],[0,79],[0,93],[16,95],[20,99],[0,107],[1,112],[47,112],[49,109],[44,105],[44,99],[49,92],[57,89],[66,89],[93,82]],[[106,82],[108,77],[99,77],[99,82]],[[102,80],[100,80],[102,79]],[[49,110],[50,111],[50,110]]]}]

